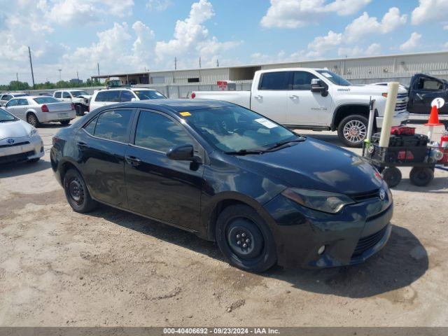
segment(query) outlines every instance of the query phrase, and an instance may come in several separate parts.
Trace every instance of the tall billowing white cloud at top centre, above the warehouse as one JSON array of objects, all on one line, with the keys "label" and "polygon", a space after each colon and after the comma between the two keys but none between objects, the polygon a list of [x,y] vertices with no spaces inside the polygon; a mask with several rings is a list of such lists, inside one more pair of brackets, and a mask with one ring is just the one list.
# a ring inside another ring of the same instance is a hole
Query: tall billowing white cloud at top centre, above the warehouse
[{"label": "tall billowing white cloud at top centre, above the warehouse", "polygon": [[[185,20],[177,20],[174,38],[169,41],[158,41],[155,53],[158,62],[177,57],[180,66],[187,66],[192,59],[204,57],[204,65],[214,63],[214,59],[225,50],[235,48],[240,41],[220,42],[216,37],[209,37],[209,30],[204,22],[215,15],[213,6],[207,0],[193,3],[190,14]],[[196,64],[194,62],[194,64]]]}]

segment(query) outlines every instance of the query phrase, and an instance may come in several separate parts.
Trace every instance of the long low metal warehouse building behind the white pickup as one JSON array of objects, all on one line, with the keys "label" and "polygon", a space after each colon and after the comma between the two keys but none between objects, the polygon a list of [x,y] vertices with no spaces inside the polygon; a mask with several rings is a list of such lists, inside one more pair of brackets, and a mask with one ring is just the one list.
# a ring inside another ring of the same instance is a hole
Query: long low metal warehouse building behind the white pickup
[{"label": "long low metal warehouse building behind the white pickup", "polygon": [[396,80],[407,85],[414,73],[427,73],[438,78],[448,79],[448,51],[223,66],[207,69],[110,73],[92,76],[92,79],[119,79],[123,85],[153,87],[170,98],[179,98],[187,97],[188,92],[195,90],[221,90],[217,85],[218,80],[235,82],[237,90],[249,90],[255,71],[286,67],[327,68],[339,73],[354,84]]}]

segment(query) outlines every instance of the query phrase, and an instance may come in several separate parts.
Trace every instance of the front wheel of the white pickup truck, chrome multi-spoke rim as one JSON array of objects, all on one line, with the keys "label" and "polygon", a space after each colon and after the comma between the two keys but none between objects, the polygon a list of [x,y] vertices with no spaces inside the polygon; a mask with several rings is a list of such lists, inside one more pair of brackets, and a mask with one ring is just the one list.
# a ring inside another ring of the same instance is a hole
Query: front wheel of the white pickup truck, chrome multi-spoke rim
[{"label": "front wheel of the white pickup truck, chrome multi-spoke rim", "polygon": [[339,140],[347,147],[360,148],[367,137],[369,120],[365,116],[353,114],[341,120],[337,127]]}]

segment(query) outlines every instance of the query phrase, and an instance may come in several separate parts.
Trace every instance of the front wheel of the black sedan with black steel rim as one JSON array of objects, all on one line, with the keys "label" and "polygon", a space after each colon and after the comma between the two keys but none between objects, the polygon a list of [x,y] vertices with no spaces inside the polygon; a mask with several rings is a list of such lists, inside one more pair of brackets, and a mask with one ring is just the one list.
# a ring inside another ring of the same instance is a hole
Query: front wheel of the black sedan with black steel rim
[{"label": "front wheel of the black sedan with black steel rim", "polygon": [[262,217],[243,204],[227,207],[216,222],[216,242],[230,265],[265,272],[276,263],[276,246]]}]

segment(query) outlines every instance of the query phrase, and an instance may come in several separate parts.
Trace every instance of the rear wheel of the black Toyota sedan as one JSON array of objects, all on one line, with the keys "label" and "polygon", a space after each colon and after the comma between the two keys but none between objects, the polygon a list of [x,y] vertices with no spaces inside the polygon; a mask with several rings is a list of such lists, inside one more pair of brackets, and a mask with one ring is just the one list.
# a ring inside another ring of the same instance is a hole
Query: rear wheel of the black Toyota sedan
[{"label": "rear wheel of the black Toyota sedan", "polygon": [[84,214],[98,206],[97,201],[92,200],[89,190],[85,185],[83,176],[76,169],[69,169],[64,176],[64,192],[71,209]]}]

